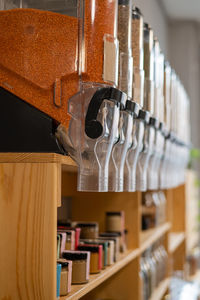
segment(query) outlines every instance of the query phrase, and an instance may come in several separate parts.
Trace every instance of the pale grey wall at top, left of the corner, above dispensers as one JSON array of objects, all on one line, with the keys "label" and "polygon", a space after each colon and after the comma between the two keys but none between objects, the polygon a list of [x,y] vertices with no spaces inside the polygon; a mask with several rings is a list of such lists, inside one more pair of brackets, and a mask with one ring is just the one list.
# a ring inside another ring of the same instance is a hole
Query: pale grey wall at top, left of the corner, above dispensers
[{"label": "pale grey wall at top, left of the corner, above dispensers", "polygon": [[143,13],[144,21],[154,29],[165,56],[169,57],[168,49],[168,20],[159,0],[133,0]]}]

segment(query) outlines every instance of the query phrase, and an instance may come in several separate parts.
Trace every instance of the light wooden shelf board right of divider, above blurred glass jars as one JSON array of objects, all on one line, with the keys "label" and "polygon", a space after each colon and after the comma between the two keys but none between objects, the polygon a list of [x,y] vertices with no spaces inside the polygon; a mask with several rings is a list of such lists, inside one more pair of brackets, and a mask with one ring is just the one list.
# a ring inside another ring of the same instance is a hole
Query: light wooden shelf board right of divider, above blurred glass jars
[{"label": "light wooden shelf board right of divider, above blurred glass jars", "polygon": [[145,251],[148,247],[150,247],[154,242],[156,242],[160,237],[163,236],[169,229],[171,225],[166,222],[163,225],[160,225],[157,228],[145,230],[140,234],[140,250],[141,252]]}]

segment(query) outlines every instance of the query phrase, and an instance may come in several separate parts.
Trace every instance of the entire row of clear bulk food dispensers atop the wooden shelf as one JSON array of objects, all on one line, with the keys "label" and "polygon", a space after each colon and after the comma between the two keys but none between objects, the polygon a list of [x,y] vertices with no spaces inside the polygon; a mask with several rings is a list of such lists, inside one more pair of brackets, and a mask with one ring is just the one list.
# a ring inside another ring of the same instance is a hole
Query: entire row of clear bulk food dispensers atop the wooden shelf
[{"label": "entire row of clear bulk food dispensers atop the wooden shelf", "polygon": [[133,4],[0,2],[1,152],[69,154],[80,191],[184,182],[188,97]]}]

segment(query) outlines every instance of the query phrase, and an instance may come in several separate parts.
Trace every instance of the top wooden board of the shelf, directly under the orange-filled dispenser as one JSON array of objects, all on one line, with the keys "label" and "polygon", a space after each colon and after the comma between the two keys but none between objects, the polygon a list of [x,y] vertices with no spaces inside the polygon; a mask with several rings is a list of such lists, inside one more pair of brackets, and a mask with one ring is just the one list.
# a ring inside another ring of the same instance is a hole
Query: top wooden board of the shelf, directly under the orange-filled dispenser
[{"label": "top wooden board of the shelf, directly under the orange-filled dispenser", "polygon": [[70,156],[56,153],[0,153],[0,163],[60,163],[77,168]]}]

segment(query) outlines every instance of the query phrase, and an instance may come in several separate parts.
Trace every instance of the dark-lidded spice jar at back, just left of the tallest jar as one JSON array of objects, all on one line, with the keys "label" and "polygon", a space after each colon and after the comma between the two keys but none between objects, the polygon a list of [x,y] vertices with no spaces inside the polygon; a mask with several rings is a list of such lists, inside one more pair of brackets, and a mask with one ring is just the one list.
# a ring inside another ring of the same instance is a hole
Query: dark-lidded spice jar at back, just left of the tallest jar
[{"label": "dark-lidded spice jar at back, just left of the tallest jar", "polygon": [[81,239],[96,239],[99,235],[99,226],[96,222],[77,223],[76,227],[81,228]]}]

